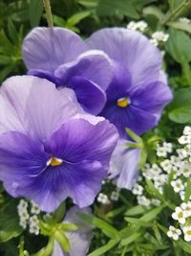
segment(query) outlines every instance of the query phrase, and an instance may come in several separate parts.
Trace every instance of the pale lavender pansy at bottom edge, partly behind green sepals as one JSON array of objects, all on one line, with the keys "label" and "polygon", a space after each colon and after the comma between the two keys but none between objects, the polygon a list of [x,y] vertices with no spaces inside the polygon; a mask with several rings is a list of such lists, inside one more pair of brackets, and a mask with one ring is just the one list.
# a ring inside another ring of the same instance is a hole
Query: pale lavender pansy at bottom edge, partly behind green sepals
[{"label": "pale lavender pansy at bottom edge, partly behind green sepals", "polygon": [[64,223],[74,223],[79,226],[79,229],[76,231],[66,232],[70,245],[71,251],[66,253],[62,250],[61,246],[54,242],[53,254],[52,256],[86,256],[91,240],[94,236],[93,227],[84,221],[81,221],[76,213],[81,212],[83,214],[91,214],[90,208],[79,209],[76,206],[71,208],[64,219]]}]

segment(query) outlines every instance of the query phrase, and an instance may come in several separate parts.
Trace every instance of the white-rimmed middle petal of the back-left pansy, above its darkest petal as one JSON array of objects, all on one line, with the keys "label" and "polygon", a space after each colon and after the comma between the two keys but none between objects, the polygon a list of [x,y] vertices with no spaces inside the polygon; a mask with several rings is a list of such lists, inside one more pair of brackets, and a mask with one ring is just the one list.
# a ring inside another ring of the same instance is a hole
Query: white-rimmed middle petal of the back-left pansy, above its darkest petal
[{"label": "white-rimmed middle petal of the back-left pansy, above its darkest petal", "polygon": [[95,82],[105,90],[113,78],[113,65],[110,58],[101,51],[88,51],[74,61],[59,66],[54,76],[67,85],[74,76]]}]

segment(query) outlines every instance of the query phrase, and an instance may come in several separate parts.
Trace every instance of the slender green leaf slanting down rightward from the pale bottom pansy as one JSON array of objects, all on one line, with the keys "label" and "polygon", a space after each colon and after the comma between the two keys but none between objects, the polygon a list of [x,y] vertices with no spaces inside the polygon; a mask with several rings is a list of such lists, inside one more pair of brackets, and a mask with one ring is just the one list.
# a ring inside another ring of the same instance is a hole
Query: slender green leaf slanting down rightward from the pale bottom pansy
[{"label": "slender green leaf slanting down rightward from the pale bottom pansy", "polygon": [[101,231],[109,238],[118,238],[119,237],[119,232],[115,227],[112,225],[108,224],[106,221],[102,221],[99,218],[96,218],[92,215],[86,215],[82,213],[77,213],[79,218],[81,218],[83,221],[86,221],[98,228],[101,229]]}]

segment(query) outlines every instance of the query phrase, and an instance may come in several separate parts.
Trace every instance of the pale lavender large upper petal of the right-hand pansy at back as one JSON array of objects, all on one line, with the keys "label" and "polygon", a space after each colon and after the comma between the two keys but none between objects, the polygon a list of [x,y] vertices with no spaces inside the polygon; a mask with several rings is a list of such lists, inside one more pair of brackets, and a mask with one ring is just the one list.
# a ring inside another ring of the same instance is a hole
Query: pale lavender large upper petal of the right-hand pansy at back
[{"label": "pale lavender large upper petal of the right-hand pansy at back", "polygon": [[149,39],[136,31],[102,29],[87,40],[91,49],[104,51],[123,64],[132,75],[134,86],[156,81],[161,68],[161,55]]}]

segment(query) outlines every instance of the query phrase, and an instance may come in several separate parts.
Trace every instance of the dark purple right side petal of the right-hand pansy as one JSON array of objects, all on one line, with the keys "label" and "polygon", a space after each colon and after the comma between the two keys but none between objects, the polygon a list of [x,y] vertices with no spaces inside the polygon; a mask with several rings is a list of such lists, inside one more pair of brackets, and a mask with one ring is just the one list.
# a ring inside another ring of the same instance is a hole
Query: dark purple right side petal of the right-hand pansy
[{"label": "dark purple right side petal of the right-hand pansy", "polygon": [[160,82],[152,82],[139,87],[133,96],[132,105],[160,116],[161,110],[172,100],[170,88]]}]

